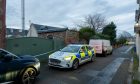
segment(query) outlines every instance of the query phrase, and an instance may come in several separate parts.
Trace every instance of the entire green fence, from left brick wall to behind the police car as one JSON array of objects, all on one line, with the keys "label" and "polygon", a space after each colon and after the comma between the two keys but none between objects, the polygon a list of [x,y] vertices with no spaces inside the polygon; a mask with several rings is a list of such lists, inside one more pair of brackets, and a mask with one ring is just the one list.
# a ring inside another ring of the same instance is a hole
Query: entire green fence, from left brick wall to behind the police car
[{"label": "entire green fence, from left brick wall to behind the police car", "polygon": [[41,62],[47,62],[48,56],[51,53],[63,48],[64,46],[64,41],[59,39],[23,37],[6,40],[6,50],[19,56],[37,56]]}]

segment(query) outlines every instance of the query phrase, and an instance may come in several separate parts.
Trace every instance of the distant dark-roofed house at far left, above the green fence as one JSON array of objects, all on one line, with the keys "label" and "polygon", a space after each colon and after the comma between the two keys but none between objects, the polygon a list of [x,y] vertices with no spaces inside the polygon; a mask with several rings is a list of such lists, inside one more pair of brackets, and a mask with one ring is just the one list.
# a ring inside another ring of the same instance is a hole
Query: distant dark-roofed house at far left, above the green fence
[{"label": "distant dark-roofed house at far left, above the green fence", "polygon": [[23,32],[22,29],[6,28],[6,38],[23,37],[23,33],[25,34],[24,36],[26,36],[28,33],[28,30],[24,30]]}]

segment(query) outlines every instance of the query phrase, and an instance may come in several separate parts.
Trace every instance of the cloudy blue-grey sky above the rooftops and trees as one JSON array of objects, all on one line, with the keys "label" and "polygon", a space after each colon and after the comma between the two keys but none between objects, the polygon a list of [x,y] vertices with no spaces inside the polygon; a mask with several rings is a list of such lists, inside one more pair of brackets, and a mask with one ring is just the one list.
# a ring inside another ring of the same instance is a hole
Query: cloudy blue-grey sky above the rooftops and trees
[{"label": "cloudy blue-grey sky above the rooftops and trees", "polygon": [[[7,27],[21,28],[21,0],[7,0]],[[134,33],[136,0],[25,0],[26,29],[32,23],[70,28],[89,14],[103,14],[118,30]]]}]

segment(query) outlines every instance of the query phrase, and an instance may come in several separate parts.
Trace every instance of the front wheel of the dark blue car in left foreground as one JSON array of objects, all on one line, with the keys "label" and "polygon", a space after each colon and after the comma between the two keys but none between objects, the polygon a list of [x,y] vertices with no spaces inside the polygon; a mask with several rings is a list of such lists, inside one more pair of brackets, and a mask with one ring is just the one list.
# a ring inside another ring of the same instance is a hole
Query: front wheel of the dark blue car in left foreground
[{"label": "front wheel of the dark blue car in left foreground", "polygon": [[27,68],[20,77],[20,84],[33,84],[36,79],[37,72],[34,68]]}]

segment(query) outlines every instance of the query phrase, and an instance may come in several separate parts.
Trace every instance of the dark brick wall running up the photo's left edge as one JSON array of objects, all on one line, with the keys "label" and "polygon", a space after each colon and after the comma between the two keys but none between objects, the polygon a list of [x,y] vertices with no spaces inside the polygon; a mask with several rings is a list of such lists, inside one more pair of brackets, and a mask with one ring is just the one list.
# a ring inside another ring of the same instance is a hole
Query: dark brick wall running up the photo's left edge
[{"label": "dark brick wall running up the photo's left edge", "polygon": [[6,0],[0,0],[0,48],[5,47],[5,12],[6,12]]}]

